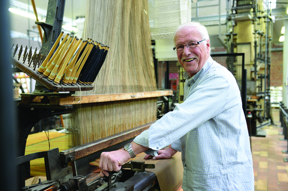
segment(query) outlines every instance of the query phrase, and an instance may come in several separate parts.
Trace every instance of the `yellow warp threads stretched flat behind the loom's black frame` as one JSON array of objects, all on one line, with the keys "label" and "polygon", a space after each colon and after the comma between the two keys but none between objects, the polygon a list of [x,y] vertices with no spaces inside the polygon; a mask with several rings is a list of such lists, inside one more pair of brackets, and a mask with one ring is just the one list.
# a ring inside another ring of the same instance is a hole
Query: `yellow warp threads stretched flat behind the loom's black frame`
[{"label": "yellow warp threads stretched flat behind the loom's black frame", "polygon": [[[67,149],[67,134],[49,132],[49,138],[50,149],[59,148],[59,151]],[[49,144],[45,133],[42,134],[41,132],[31,134],[28,136],[27,142],[30,145],[26,144],[25,155],[49,150]],[[30,174],[31,176],[46,176],[44,158],[38,158],[30,161]]]}]

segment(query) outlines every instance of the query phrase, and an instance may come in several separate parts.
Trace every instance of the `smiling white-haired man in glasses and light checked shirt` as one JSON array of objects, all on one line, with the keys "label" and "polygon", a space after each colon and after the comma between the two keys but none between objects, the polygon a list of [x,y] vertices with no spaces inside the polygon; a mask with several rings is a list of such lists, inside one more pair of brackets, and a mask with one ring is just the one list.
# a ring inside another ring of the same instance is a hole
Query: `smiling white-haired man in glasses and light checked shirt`
[{"label": "smiling white-haired man in glasses and light checked shirt", "polygon": [[[205,26],[190,22],[175,31],[184,68],[184,102],[137,136],[123,150],[101,154],[101,176],[118,171],[135,154],[171,158],[182,154],[186,190],[254,190],[245,115],[234,76],[210,57]],[[171,145],[168,149],[161,150]]]}]

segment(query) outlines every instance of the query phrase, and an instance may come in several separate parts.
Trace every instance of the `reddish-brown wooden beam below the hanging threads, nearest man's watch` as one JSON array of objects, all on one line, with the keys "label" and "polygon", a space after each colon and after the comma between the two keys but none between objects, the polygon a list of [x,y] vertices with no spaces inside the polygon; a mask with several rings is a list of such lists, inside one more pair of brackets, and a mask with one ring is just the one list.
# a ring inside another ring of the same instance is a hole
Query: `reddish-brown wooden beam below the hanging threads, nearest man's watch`
[{"label": "reddish-brown wooden beam below the hanging threads, nearest man's watch", "polygon": [[69,153],[71,152],[75,152],[75,160],[77,160],[78,158],[85,157],[89,154],[95,153],[97,151],[103,150],[110,146],[116,145],[118,143],[129,140],[131,138],[134,138],[137,135],[139,135],[141,132],[143,132],[144,130],[148,129],[153,123],[155,123],[155,121],[132,128],[130,130],[117,133],[109,137],[104,137],[102,139],[92,141],[90,143],[86,143],[80,146],[73,147],[71,149],[61,151],[60,158],[61,160],[64,160],[65,157],[67,157],[65,155],[69,155]]}]

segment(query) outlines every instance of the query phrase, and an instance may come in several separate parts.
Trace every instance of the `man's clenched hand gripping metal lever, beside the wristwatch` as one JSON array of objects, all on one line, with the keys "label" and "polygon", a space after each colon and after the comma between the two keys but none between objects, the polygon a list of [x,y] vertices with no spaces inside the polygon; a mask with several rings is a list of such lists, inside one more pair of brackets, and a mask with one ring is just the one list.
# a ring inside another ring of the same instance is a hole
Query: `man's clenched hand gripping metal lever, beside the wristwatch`
[{"label": "man's clenched hand gripping metal lever, beside the wristwatch", "polygon": [[108,171],[119,171],[121,166],[130,158],[130,154],[123,149],[101,153],[99,163],[99,168],[101,169],[100,176],[108,176]]}]

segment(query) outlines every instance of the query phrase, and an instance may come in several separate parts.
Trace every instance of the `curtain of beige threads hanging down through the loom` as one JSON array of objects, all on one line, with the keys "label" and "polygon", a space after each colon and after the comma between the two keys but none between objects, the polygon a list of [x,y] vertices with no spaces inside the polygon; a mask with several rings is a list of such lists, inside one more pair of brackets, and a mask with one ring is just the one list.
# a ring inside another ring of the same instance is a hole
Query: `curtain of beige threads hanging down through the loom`
[{"label": "curtain of beige threads hanging down through the loom", "polygon": [[[82,95],[156,91],[147,0],[88,0],[83,38],[110,46],[94,82]],[[156,120],[157,98],[73,106],[70,145],[77,146]]]}]

